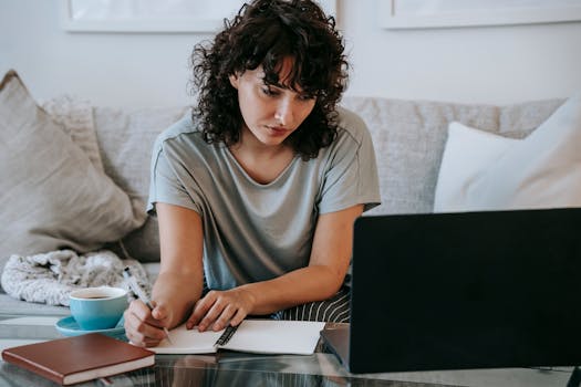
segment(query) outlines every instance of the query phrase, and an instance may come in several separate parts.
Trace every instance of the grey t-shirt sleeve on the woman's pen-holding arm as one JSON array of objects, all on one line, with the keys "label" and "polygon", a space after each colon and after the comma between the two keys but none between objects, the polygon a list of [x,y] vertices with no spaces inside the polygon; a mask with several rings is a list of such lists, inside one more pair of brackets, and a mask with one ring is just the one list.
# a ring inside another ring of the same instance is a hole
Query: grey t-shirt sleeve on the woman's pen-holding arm
[{"label": "grey t-shirt sleeve on the woman's pen-holding arm", "polygon": [[147,212],[155,215],[155,205],[164,202],[195,210],[201,213],[199,201],[195,198],[191,189],[186,189],[178,163],[173,163],[164,150],[163,143],[155,146],[152,156],[149,199],[147,200]]}]

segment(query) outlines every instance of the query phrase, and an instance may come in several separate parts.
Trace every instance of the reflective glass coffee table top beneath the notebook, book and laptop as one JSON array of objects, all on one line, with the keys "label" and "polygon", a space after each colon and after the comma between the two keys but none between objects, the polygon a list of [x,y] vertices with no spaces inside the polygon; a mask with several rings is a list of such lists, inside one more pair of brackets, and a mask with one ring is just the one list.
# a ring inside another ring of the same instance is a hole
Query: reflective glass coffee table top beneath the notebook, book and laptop
[{"label": "reflective glass coffee table top beneath the notebook, book and laptop", "polygon": [[[25,316],[0,312],[0,351],[62,337],[54,327],[63,317]],[[58,356],[58,354],[55,354]],[[220,352],[216,355],[157,355],[153,367],[84,383],[77,386],[507,386],[564,387],[571,367],[470,369],[354,375],[321,345],[310,356],[252,355]],[[56,386],[54,383],[0,362],[0,387]]]}]

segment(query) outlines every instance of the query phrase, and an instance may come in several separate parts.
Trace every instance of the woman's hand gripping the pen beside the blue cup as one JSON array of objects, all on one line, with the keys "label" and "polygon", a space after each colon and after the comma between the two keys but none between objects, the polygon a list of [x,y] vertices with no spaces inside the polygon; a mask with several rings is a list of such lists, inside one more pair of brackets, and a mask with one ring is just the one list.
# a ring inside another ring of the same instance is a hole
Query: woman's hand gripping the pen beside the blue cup
[{"label": "woman's hand gripping the pen beside the blue cup", "polygon": [[134,300],[123,314],[125,335],[132,344],[142,347],[153,347],[165,338],[164,326],[170,321],[170,315],[163,305],[155,305],[153,311],[141,300]]}]

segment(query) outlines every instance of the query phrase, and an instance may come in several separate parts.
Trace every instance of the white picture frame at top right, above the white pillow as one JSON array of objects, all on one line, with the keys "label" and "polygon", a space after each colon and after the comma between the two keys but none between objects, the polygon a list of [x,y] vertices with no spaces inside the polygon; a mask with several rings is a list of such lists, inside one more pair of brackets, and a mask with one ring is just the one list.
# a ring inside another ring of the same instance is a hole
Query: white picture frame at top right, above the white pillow
[{"label": "white picture frame at top right, above the white pillow", "polygon": [[378,0],[384,29],[437,29],[581,20],[578,0]]}]

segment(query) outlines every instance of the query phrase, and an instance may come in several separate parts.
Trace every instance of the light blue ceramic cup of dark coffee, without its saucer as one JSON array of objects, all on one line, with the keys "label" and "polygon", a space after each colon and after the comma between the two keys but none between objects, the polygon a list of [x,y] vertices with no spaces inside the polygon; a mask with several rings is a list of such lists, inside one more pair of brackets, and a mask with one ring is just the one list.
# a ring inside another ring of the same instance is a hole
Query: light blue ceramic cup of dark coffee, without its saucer
[{"label": "light blue ceramic cup of dark coffee, without its saucer", "polygon": [[115,327],[127,308],[127,291],[122,287],[86,287],[71,292],[71,314],[84,331]]}]

